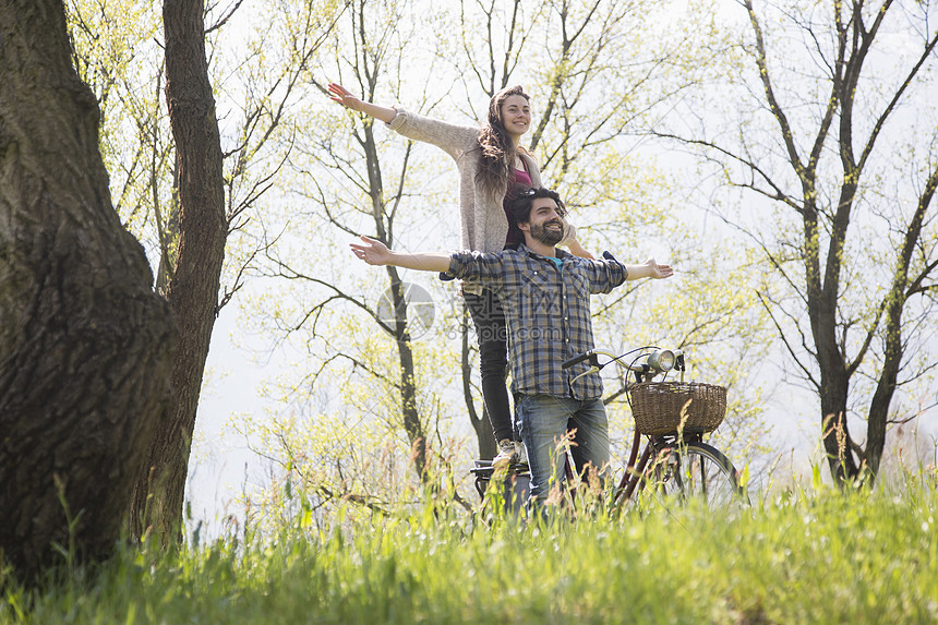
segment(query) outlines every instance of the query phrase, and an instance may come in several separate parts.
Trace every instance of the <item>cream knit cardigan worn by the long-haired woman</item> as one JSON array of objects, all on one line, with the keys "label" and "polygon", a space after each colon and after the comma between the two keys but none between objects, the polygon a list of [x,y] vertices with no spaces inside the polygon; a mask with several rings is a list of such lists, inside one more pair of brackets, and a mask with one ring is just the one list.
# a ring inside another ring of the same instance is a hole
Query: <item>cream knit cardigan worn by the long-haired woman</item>
[{"label": "cream knit cardigan worn by the long-haired woman", "polygon": [[[508,236],[508,218],[502,202],[486,199],[482,185],[476,182],[476,171],[482,156],[479,146],[479,129],[431,119],[395,106],[397,115],[388,125],[408,139],[431,143],[456,160],[459,170],[459,216],[462,247],[478,252],[497,253],[505,247]],[[531,183],[541,187],[541,172],[537,161],[527,154],[519,153],[527,165]],[[566,245],[576,239],[576,228],[567,225],[564,240]]]}]

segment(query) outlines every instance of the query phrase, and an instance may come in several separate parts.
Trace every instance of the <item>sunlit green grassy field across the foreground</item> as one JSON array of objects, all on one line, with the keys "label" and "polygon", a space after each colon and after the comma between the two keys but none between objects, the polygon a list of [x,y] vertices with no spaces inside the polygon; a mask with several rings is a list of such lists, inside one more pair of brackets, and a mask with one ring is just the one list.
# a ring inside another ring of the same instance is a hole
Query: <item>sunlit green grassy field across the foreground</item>
[{"label": "sunlit green grassy field across the foreground", "polygon": [[[936,623],[938,495],[795,490],[735,515],[284,529],[0,598],[0,623]],[[337,526],[339,527],[339,526]]]}]

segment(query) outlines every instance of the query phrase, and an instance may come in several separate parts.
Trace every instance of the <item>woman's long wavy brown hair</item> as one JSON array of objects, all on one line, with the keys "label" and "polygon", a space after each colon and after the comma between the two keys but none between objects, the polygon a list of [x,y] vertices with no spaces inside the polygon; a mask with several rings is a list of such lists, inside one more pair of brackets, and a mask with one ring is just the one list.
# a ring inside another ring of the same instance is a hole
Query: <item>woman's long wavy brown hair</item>
[{"label": "woman's long wavy brown hair", "polygon": [[508,173],[515,163],[515,144],[508,136],[502,120],[502,104],[510,96],[521,96],[528,101],[531,99],[521,85],[500,91],[489,100],[488,124],[479,131],[482,158],[476,171],[476,182],[482,185],[491,200],[500,204],[508,191]]}]

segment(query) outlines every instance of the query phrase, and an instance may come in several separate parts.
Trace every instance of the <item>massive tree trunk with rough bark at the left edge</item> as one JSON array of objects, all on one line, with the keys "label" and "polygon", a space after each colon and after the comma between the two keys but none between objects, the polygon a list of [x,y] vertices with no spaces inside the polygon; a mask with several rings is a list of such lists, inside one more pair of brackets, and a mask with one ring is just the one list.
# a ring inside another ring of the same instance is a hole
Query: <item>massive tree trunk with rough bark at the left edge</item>
[{"label": "massive tree trunk with rough bark at the left edge", "polygon": [[61,0],[0,0],[0,550],[35,579],[53,543],[119,538],[175,326],[111,205]]}]

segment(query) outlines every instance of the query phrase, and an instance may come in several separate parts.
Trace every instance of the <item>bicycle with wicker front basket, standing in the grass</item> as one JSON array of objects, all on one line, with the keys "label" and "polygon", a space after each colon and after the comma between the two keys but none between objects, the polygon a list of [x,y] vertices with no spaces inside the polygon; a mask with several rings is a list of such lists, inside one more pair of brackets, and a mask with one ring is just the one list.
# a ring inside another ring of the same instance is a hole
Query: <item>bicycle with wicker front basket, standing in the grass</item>
[{"label": "bicycle with wicker front basket, standing in the grass", "polygon": [[[636,356],[626,363],[624,359],[633,354]],[[600,357],[609,360],[601,363]],[[613,491],[614,512],[642,492],[656,501],[700,498],[711,509],[749,504],[746,488],[739,483],[739,472],[722,452],[703,442],[703,435],[723,421],[725,387],[685,383],[686,364],[681,350],[649,346],[616,356],[594,349],[565,361],[562,366],[569,369],[584,361],[589,368],[574,380],[611,363],[634,375],[634,381],[626,382],[625,392],[635,418],[635,434],[625,471]],[[658,375],[666,377],[672,371],[681,373],[680,382],[653,381]],[[639,456],[642,437],[647,443]],[[484,498],[494,473],[491,462],[477,460],[470,472],[476,476],[477,492]],[[573,478],[569,457],[566,477],[569,484]],[[513,502],[515,512],[529,481],[527,467],[509,467],[505,500]],[[572,497],[575,498],[573,493]]]}]

